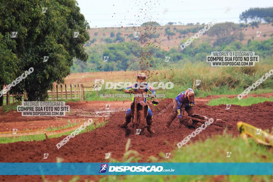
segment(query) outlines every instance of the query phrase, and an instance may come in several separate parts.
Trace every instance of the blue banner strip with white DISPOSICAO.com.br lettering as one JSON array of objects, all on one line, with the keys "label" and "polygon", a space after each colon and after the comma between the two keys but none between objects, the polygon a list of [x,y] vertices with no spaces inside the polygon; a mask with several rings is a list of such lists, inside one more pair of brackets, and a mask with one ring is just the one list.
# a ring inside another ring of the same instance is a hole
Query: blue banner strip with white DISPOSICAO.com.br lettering
[{"label": "blue banner strip with white DISPOSICAO.com.br lettering", "polygon": [[273,163],[18,162],[0,163],[0,175],[273,175]]}]

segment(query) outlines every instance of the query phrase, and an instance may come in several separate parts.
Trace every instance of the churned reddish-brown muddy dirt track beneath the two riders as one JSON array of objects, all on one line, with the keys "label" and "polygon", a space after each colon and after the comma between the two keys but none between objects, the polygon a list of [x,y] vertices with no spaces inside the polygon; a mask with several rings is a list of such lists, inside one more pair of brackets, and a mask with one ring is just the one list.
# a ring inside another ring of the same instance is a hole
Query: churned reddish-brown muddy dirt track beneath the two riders
[{"label": "churned reddish-brown muddy dirt track beneath the two riders", "polygon": [[[56,144],[65,136],[44,141],[0,144],[0,162],[56,162],[57,157],[62,158],[63,162],[109,162],[109,159],[104,159],[105,153],[111,153],[111,158],[122,160],[125,144],[129,138],[131,139],[129,149],[136,150],[142,158],[139,162],[146,162],[149,156],[162,159],[159,156],[160,152],[166,153],[177,149],[176,144],[195,130],[185,126],[178,128],[178,118],[172,122],[167,130],[163,129],[166,118],[168,118],[172,108],[169,108],[161,116],[157,114],[171,102],[172,99],[164,99],[160,100],[160,104],[157,106],[150,104],[154,113],[153,126],[156,131],[154,135],[150,134],[146,129],[142,135],[128,134],[128,130],[120,127],[124,121],[124,111],[120,111],[111,115],[109,122],[104,127],[98,128],[93,132],[78,135],[70,139],[60,149],[57,149]],[[196,101],[195,106],[195,113],[214,118],[214,120],[222,119],[231,123],[234,127],[229,128],[227,133],[232,135],[239,134],[236,127],[236,122],[238,121],[247,122],[263,130],[271,129],[273,126],[272,111],[273,102],[264,102],[245,107],[231,105],[230,110],[226,110],[226,105],[208,106],[202,101]],[[129,124],[129,129],[130,126],[131,123]],[[222,134],[224,129],[225,127],[215,128],[208,126],[199,135],[192,138],[188,144],[200,139],[205,140],[211,135]],[[43,153],[49,153],[49,157],[43,159]],[[13,179],[13,177],[11,178]],[[27,178],[27,176],[23,178]],[[35,178],[40,179],[38,176]]]}]

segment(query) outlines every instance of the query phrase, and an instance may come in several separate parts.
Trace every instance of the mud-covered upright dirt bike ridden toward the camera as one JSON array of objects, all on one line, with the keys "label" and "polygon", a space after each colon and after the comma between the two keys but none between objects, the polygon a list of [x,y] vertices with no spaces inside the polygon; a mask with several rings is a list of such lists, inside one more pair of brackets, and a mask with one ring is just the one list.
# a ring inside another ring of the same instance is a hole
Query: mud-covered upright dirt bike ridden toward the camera
[{"label": "mud-covered upright dirt bike ridden toward the camera", "polygon": [[[135,101],[131,104],[131,112],[133,118],[132,126],[136,134],[141,134],[144,131],[144,128],[147,127],[146,117],[148,115],[149,109],[149,104],[145,102],[145,97],[147,96],[147,94],[145,93],[145,89],[140,88],[128,91],[127,93],[135,94]],[[159,104],[159,102],[156,99],[156,101],[152,101],[152,104],[157,105]]]}]

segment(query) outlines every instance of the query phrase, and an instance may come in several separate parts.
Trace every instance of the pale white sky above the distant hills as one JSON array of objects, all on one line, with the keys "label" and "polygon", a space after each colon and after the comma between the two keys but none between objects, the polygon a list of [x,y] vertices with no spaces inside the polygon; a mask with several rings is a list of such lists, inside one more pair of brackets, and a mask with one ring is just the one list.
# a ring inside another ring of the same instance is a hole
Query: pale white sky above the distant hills
[{"label": "pale white sky above the distant hills", "polygon": [[147,21],[239,23],[239,15],[250,7],[272,7],[272,0],[77,0],[91,28],[140,26]]}]

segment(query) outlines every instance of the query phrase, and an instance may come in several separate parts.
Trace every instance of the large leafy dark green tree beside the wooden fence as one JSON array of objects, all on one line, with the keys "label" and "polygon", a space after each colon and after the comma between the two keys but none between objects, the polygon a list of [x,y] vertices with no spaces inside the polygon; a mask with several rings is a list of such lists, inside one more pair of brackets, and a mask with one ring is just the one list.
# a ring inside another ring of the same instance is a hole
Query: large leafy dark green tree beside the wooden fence
[{"label": "large leafy dark green tree beside the wooden fence", "polygon": [[[14,46],[7,48],[19,60],[15,77],[30,67],[34,72],[12,88],[18,97],[24,92],[29,100],[45,100],[53,82],[64,82],[70,74],[73,58],[86,61],[88,56],[83,45],[89,40],[89,28],[74,0],[11,0],[0,6],[0,32],[3,42],[9,42],[11,31],[18,38],[11,40]],[[11,8],[12,7],[12,8]],[[42,7],[47,7],[42,13]],[[78,32],[78,38],[73,38]],[[49,56],[43,62],[44,56]],[[0,73],[2,74],[2,73]]]}]

